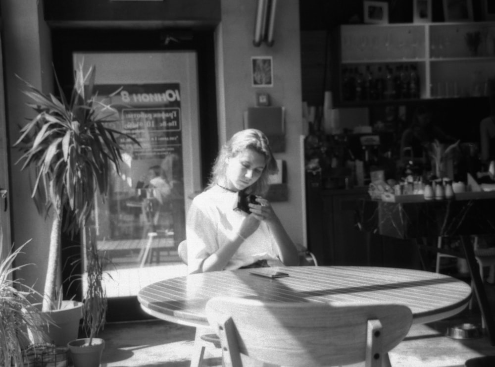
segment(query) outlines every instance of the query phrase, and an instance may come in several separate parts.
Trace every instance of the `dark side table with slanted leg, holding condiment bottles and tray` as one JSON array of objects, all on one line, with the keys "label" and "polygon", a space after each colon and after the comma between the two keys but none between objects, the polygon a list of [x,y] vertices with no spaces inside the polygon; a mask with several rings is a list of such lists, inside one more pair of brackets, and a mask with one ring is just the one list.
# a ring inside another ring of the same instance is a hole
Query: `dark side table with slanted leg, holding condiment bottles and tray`
[{"label": "dark side table with slanted leg, holding condiment bottles and tray", "polygon": [[[362,230],[384,236],[412,239],[459,237],[474,283],[488,335],[495,345],[495,323],[471,244],[471,235],[495,233],[495,199],[387,203],[359,200],[358,224]],[[432,250],[432,249],[430,249]],[[440,250],[440,252],[444,252]]]}]

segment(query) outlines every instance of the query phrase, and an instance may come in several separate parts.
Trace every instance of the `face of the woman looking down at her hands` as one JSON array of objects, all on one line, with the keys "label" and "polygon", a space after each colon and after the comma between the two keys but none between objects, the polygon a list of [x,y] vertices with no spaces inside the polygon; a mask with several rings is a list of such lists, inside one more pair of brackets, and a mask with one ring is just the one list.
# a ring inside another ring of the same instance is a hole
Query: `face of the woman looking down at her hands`
[{"label": "face of the woman looking down at her hands", "polygon": [[265,165],[265,157],[251,149],[228,158],[225,171],[227,188],[241,191],[251,186],[259,179]]}]

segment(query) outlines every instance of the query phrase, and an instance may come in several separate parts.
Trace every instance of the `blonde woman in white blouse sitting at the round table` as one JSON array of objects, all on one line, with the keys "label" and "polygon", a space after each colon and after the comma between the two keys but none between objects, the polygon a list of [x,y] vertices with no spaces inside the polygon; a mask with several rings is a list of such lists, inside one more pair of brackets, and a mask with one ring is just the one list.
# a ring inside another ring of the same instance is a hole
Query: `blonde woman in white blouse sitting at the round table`
[{"label": "blonde woman in white blouse sitting at the round table", "polygon": [[[186,232],[190,273],[298,265],[298,251],[263,195],[277,165],[259,130],[236,134],[222,147],[205,191],[194,198]],[[239,198],[253,195],[244,210]]]}]

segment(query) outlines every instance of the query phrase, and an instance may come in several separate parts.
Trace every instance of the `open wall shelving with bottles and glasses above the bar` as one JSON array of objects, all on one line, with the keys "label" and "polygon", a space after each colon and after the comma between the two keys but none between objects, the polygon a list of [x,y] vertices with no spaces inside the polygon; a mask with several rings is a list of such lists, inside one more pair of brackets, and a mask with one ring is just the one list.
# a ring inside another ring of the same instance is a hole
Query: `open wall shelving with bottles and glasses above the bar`
[{"label": "open wall shelving with bottles and glasses above the bar", "polygon": [[[495,77],[495,22],[342,25],[339,39],[341,102],[481,97]],[[388,70],[396,78],[390,83],[413,72],[419,83],[410,92],[388,94]],[[350,78],[365,90],[370,75],[372,83],[383,80],[378,92],[359,96],[348,90]]]}]

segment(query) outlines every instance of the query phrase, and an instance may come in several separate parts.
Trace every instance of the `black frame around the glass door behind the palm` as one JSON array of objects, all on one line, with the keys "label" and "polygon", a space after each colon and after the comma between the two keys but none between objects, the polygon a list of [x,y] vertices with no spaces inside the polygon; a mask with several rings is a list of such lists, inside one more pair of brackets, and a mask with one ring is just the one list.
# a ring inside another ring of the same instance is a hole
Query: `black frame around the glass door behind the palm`
[{"label": "black frame around the glass door behind the palm", "polygon": [[[218,152],[216,109],[216,76],[214,28],[188,30],[188,37],[179,43],[163,44],[167,30],[156,29],[52,29],[53,65],[64,93],[73,85],[73,52],[139,52],[139,51],[195,51],[198,64],[198,113],[200,139],[201,186],[208,183],[210,168]],[[97,71],[98,72],[98,71]],[[74,246],[77,243],[77,246]],[[71,262],[80,253],[79,236],[62,234],[62,263]],[[81,269],[63,269],[62,278]],[[82,299],[82,286],[78,282],[63,285],[64,297]],[[141,310],[136,296],[108,300],[107,322],[149,319]]]}]

